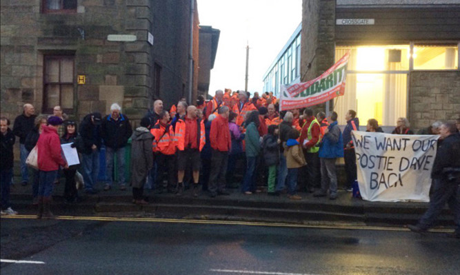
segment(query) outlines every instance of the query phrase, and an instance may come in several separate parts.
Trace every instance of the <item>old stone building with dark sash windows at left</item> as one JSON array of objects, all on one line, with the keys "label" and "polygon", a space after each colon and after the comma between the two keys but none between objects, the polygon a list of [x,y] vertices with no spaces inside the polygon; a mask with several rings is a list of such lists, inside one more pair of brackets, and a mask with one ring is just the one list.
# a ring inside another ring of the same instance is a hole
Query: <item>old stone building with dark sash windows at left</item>
[{"label": "old stone building with dark sash windows at left", "polygon": [[81,119],[117,102],[137,120],[154,99],[169,108],[189,97],[192,14],[195,101],[196,0],[2,0],[1,114],[14,118],[32,103]]}]

